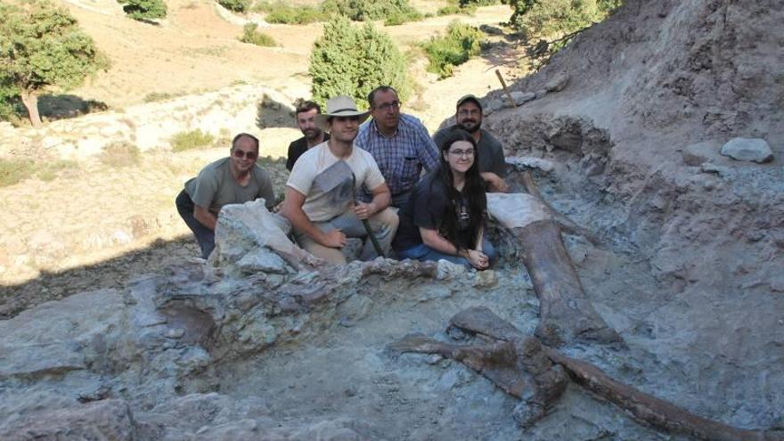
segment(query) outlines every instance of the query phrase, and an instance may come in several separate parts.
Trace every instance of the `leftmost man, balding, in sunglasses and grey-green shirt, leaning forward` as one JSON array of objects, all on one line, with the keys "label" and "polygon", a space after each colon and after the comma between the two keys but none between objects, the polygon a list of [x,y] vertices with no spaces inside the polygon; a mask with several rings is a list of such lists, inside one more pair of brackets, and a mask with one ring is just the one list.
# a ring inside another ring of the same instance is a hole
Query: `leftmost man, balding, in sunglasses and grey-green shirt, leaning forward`
[{"label": "leftmost man, balding, in sunglasses and grey-green shirt, leaning forward", "polygon": [[177,195],[177,212],[199,241],[201,257],[209,257],[215,248],[217,214],[223,206],[264,198],[266,208],[273,208],[273,183],[257,158],[257,137],[236,135],[229,157],[204,167]]}]

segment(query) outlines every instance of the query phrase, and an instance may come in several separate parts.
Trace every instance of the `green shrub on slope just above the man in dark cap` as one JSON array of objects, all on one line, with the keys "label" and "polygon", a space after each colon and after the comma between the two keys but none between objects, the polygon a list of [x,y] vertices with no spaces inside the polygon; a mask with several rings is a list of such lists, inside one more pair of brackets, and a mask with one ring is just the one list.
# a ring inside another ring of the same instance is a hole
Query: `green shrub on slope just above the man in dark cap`
[{"label": "green shrub on slope just above the man in dark cap", "polygon": [[484,37],[481,30],[453,21],[445,36],[430,37],[427,43],[421,45],[428,54],[428,71],[438,74],[439,78],[451,77],[455,66],[481,52]]}]

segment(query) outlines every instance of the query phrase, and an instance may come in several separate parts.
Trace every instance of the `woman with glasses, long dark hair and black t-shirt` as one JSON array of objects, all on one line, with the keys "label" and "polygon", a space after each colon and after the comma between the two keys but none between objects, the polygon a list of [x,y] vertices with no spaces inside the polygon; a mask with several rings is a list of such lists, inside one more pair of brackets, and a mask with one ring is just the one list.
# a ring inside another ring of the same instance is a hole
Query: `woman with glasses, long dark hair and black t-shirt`
[{"label": "woman with glasses, long dark hair and black t-shirt", "polygon": [[487,269],[495,249],[485,237],[487,200],[477,142],[468,132],[453,130],[439,148],[440,167],[422,178],[398,213],[393,247],[400,258]]}]

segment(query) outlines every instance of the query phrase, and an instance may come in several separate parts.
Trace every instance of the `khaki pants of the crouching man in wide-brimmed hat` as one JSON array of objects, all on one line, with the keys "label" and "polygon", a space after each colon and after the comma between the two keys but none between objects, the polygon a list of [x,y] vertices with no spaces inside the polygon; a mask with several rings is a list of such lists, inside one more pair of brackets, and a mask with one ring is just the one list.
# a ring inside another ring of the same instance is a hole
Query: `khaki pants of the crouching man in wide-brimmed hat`
[{"label": "khaki pants of the crouching man in wide-brimmed hat", "polygon": [[[390,244],[392,243],[392,238],[395,237],[397,224],[399,222],[397,214],[390,208],[384,208],[375,215],[370,216],[368,222],[371,225],[373,235],[375,235],[376,239],[379,241],[381,250],[384,251],[385,256],[388,256]],[[331,230],[337,228],[346,234],[347,237],[362,238],[364,240],[364,245],[362,254],[360,254],[359,258],[362,260],[372,260],[377,257],[376,251],[373,249],[372,241],[367,237],[367,232],[362,225],[362,221],[356,218],[354,211],[348,210],[346,213],[333,217],[329,221],[314,222],[313,225],[324,233],[329,233]],[[297,239],[300,247],[306,249],[315,257],[321,257],[327,262],[336,265],[346,263],[346,256],[343,255],[339,248],[325,247],[307,237],[305,234],[296,231],[294,232],[294,237]]]}]

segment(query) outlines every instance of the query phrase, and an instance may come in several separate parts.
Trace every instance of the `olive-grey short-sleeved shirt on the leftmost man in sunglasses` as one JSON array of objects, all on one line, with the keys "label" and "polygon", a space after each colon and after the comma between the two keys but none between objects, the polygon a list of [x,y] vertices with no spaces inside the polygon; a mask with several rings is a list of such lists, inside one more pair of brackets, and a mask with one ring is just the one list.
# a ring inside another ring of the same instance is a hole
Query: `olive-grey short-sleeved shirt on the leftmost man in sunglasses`
[{"label": "olive-grey short-sleeved shirt on the leftmost man in sunglasses", "polygon": [[231,158],[218,159],[204,167],[199,176],[185,183],[185,192],[193,203],[217,216],[220,209],[228,204],[241,204],[249,200],[265,199],[266,208],[273,208],[275,194],[272,179],[262,167],[251,168],[249,183],[238,184],[232,176]]}]

